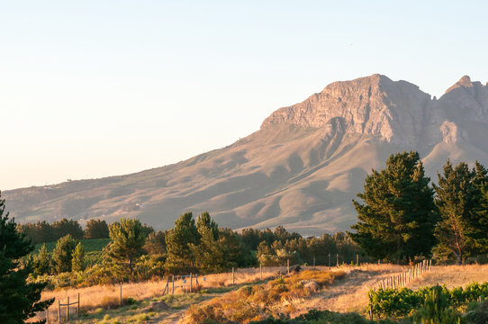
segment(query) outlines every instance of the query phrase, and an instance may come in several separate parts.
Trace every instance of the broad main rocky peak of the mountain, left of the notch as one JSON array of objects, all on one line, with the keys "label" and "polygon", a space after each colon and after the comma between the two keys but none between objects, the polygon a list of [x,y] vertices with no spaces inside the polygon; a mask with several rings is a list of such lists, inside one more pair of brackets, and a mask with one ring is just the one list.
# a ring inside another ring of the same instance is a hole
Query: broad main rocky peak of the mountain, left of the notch
[{"label": "broad main rocky peak of the mountain, left of the notch", "polygon": [[273,112],[261,125],[293,123],[315,128],[340,121],[346,133],[374,135],[388,142],[418,141],[430,95],[417,85],[375,74],[327,85],[297,103]]}]

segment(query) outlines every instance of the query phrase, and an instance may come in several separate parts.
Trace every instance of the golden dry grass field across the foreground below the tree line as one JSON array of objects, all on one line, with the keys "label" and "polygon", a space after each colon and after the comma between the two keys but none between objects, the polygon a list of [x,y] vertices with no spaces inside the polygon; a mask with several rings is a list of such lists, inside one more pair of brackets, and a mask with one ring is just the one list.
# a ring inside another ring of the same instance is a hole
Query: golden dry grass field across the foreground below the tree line
[{"label": "golden dry grass field across the foreground below the tree line", "polygon": [[[385,278],[399,274],[405,270],[404,266],[393,265],[363,265],[363,266],[340,266],[332,267],[333,272],[340,272],[344,275],[342,279],[332,276],[332,280],[311,293],[296,294],[295,296],[283,294],[283,298],[274,296],[274,301],[269,304],[274,313],[285,313],[291,318],[310,310],[319,311],[357,311],[366,313],[368,303],[367,292]],[[309,267],[310,269],[310,267]],[[328,267],[318,267],[321,275],[329,272]],[[58,300],[66,302],[77,300],[77,293],[80,293],[81,310],[83,316],[77,320],[80,324],[91,323],[182,323],[188,322],[195,309],[205,308],[205,305],[221,303],[220,301],[236,300],[235,296],[247,292],[250,288],[246,286],[266,285],[276,281],[277,272],[285,272],[285,267],[263,268],[263,281],[260,279],[259,269],[239,269],[235,274],[235,282],[232,284],[231,273],[219,275],[206,275],[199,278],[199,293],[184,293],[183,281],[176,283],[174,296],[162,296],[166,285],[165,280],[155,280],[139,284],[122,284],[122,298],[131,301],[131,304],[119,307],[120,286],[93,286],[80,289],[62,289],[42,293],[42,298],[56,298],[56,302],[50,307],[50,319],[57,320]],[[465,286],[473,281],[483,283],[488,281],[488,266],[434,266],[433,270],[419,279],[412,281],[408,287],[416,289],[420,286],[447,284],[448,287]],[[304,274],[306,275],[306,274]],[[290,284],[293,291],[298,289],[297,283],[306,280],[321,280],[317,278],[286,279],[283,283]],[[298,278],[298,277],[297,277]],[[181,286],[182,287],[178,287]],[[269,293],[276,293],[275,284],[272,284]],[[238,293],[240,289],[240,292]],[[244,289],[244,291],[242,290]],[[286,298],[285,298],[286,297]],[[270,297],[271,298],[271,297]],[[193,306],[192,306],[193,305]],[[193,311],[188,311],[189,309]],[[66,308],[64,309],[66,312]],[[241,308],[242,310],[242,308]],[[229,310],[226,310],[229,311]],[[64,313],[63,313],[64,314]],[[44,319],[40,314],[38,320]],[[190,320],[191,321],[191,320]]]}]

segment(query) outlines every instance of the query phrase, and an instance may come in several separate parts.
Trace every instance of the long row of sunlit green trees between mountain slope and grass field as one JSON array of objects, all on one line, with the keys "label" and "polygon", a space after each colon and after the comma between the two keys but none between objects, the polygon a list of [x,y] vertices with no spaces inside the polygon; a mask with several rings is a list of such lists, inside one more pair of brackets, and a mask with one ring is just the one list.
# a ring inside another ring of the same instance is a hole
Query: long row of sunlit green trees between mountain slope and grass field
[{"label": "long row of sunlit green trees between mountain slope and grass field", "polygon": [[[94,220],[95,222],[95,220]],[[87,266],[83,246],[71,234],[59,238],[52,253],[45,245],[33,259],[33,276],[78,274],[88,284],[149,279],[152,276],[218,273],[232,267],[335,265],[356,261],[359,247],[344,233],[303,238],[284,227],[221,228],[208,212],[194,220],[185,212],[173,229],[154,231],[140,220],[122,219],[108,226],[111,242],[101,263]],[[79,275],[82,273],[83,275]]]}]

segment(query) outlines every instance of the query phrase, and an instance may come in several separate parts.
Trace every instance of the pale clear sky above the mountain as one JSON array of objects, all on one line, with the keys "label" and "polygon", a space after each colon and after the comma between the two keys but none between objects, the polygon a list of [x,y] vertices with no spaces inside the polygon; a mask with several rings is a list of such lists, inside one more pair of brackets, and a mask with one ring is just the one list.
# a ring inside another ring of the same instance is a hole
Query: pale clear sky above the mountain
[{"label": "pale clear sky above the mountain", "polygon": [[230,145],[334,81],[488,81],[484,1],[0,0],[0,190]]}]

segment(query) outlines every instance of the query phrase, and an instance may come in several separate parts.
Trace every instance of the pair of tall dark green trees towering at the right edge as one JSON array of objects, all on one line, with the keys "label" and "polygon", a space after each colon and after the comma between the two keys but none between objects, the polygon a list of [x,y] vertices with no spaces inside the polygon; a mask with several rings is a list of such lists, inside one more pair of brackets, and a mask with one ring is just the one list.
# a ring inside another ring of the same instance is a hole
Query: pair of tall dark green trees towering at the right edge
[{"label": "pair of tall dark green trees towering at the right edge", "polygon": [[430,184],[419,153],[398,153],[364,188],[349,236],[369,257],[408,263],[435,253],[462,264],[488,252],[488,171],[480,163],[447,160]]}]

